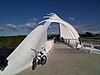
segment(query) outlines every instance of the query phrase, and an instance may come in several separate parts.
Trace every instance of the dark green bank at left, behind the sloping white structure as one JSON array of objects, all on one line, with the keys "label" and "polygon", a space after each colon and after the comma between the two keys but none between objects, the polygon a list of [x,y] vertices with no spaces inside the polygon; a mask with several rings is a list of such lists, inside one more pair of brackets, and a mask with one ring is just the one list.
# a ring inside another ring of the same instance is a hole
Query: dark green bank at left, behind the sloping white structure
[{"label": "dark green bank at left, behind the sloping white structure", "polygon": [[0,49],[14,50],[26,36],[0,37]]}]

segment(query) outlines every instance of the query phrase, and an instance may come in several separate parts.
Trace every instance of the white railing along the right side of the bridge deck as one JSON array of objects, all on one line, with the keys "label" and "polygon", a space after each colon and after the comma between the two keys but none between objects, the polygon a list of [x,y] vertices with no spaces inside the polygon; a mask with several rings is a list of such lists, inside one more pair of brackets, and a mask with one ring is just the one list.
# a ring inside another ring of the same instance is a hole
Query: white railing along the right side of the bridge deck
[{"label": "white railing along the right side of the bridge deck", "polygon": [[64,39],[63,42],[74,49],[85,50],[88,47],[89,52],[100,51],[100,40]]}]

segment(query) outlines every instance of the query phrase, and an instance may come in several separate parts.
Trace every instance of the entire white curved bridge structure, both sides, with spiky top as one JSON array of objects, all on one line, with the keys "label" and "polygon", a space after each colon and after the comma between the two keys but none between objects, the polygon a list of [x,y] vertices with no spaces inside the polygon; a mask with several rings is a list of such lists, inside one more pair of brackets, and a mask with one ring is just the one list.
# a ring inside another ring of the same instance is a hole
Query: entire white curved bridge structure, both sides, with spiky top
[{"label": "entire white curved bridge structure, both sides, with spiky top", "polygon": [[[32,49],[37,51],[42,50],[43,45],[47,41],[47,29],[51,22],[59,23],[60,36],[64,39],[77,39],[76,41],[71,41],[70,44],[79,42],[77,31],[69,23],[63,21],[54,13],[49,14],[45,18],[48,19],[42,21],[45,22],[44,25],[35,28],[10,56],[8,56],[8,66],[3,72],[0,72],[0,75],[15,75],[32,65],[32,59],[35,57],[35,52]],[[47,45],[49,46],[49,44]]]}]

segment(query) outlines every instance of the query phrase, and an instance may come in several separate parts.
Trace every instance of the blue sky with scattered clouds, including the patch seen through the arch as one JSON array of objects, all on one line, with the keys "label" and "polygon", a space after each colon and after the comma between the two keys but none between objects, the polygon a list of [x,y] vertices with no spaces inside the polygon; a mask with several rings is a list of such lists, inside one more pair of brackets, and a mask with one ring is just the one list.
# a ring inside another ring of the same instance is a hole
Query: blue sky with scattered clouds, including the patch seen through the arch
[{"label": "blue sky with scattered clouds, including the patch seen through the arch", "polygon": [[27,35],[50,12],[79,33],[100,33],[100,0],[0,0],[0,36]]}]

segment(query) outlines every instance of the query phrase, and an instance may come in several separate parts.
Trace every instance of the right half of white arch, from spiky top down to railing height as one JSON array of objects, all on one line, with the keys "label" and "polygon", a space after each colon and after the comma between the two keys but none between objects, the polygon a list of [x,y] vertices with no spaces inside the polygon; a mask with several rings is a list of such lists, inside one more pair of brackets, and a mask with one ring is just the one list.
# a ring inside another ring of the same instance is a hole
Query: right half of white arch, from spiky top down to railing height
[{"label": "right half of white arch, from spiky top down to railing height", "polygon": [[[57,22],[60,25],[60,35],[63,38],[66,39],[78,39],[79,38],[79,34],[76,31],[76,29],[70,25],[68,22],[63,21],[61,18],[59,18],[55,13],[51,13],[50,16],[46,16],[44,18],[49,18],[46,19],[42,22]],[[42,23],[40,22],[40,23]]]}]

